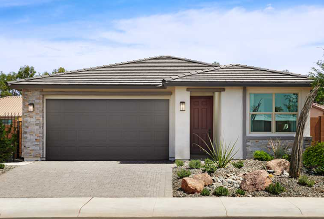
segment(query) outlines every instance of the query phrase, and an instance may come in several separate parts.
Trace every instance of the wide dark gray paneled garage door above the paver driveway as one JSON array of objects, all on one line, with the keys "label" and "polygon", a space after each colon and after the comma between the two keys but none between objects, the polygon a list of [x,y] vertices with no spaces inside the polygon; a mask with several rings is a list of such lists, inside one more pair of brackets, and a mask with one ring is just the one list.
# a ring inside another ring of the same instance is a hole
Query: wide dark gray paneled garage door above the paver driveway
[{"label": "wide dark gray paneled garage door above the paver driveway", "polygon": [[46,100],[46,160],[168,159],[168,100]]}]

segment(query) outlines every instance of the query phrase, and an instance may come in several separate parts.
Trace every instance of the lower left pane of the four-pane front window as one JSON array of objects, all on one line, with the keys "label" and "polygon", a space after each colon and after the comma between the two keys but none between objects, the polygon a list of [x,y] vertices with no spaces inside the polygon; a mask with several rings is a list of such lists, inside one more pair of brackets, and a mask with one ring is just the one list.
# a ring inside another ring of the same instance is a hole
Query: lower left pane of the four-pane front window
[{"label": "lower left pane of the four-pane front window", "polygon": [[251,132],[271,132],[271,114],[251,114]]}]

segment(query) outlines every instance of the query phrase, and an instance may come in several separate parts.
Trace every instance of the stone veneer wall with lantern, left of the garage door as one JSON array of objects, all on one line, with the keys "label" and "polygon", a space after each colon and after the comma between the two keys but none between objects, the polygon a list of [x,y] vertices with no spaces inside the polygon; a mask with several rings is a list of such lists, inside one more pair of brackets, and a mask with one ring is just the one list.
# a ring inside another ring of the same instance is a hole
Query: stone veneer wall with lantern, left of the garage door
[{"label": "stone veneer wall with lantern, left of the garage door", "polygon": [[[25,161],[44,157],[44,97],[41,91],[22,90],[22,157]],[[28,104],[34,104],[33,112],[28,112]]]}]

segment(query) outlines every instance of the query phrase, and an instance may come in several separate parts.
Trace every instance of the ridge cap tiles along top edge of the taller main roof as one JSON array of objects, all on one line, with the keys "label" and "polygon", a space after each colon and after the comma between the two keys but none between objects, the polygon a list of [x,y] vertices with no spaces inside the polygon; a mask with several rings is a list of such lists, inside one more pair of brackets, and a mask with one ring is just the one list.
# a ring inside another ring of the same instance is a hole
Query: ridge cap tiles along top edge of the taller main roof
[{"label": "ridge cap tiles along top edge of the taller main roof", "polygon": [[57,75],[67,75],[67,74],[71,74],[71,73],[75,73],[75,72],[85,72],[85,71],[89,71],[89,70],[92,70],[92,69],[99,69],[99,68],[107,68],[107,67],[111,67],[111,66],[125,65],[125,64],[135,63],[135,62],[142,62],[142,61],[147,61],[147,60],[158,59],[158,58],[162,58],[162,57],[168,57],[168,58],[172,58],[172,59],[178,59],[178,60],[194,62],[194,63],[210,65],[210,66],[218,66],[218,65],[215,65],[215,64],[212,64],[212,63],[201,62],[201,61],[187,59],[187,58],[180,58],[180,57],[170,56],[170,55],[160,55],[160,56],[152,56],[152,57],[144,58],[144,59],[135,59],[135,60],[126,61],[126,62],[118,62],[118,63],[115,63],[115,64],[102,65],[102,66],[96,66],[96,67],[90,67],[90,68],[84,68],[84,69],[78,69],[78,70],[71,70],[71,71],[66,71],[66,72],[53,73],[53,74],[49,74],[49,75],[37,75],[37,76],[34,76],[34,77],[30,77],[30,78],[23,78],[23,79],[18,79],[18,80],[14,80],[14,81],[8,81],[7,84],[14,84],[16,82],[29,81],[29,80],[38,79],[38,78],[53,77],[53,76],[57,76]]}]

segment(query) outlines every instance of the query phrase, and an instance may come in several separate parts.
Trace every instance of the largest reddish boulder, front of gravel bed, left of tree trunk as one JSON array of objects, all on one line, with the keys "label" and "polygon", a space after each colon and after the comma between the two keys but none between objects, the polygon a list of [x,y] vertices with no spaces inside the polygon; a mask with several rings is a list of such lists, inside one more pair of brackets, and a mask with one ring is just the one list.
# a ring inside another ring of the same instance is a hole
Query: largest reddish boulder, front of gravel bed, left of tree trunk
[{"label": "largest reddish boulder, front of gravel bed, left of tree trunk", "polygon": [[256,170],[243,177],[240,184],[241,189],[252,192],[264,190],[272,183],[269,174],[265,170]]}]

